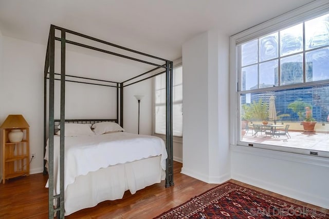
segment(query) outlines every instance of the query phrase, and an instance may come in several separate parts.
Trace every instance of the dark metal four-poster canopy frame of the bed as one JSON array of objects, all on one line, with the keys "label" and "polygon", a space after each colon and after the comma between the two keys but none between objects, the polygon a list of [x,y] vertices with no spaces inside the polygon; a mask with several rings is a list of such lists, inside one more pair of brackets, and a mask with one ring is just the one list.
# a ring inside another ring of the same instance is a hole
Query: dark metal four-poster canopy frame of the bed
[{"label": "dark metal four-poster canopy frame of the bed", "polygon": [[[59,30],[61,32],[61,37],[56,37],[55,32]],[[108,46],[116,47],[125,51],[132,52],[133,54],[138,54],[141,56],[157,59],[158,61],[165,62],[165,64],[156,64],[151,63],[149,61],[145,61],[140,58],[131,57],[123,54],[119,54],[116,52],[111,52],[108,50],[96,48],[93,46],[88,46],[85,44],[81,44],[78,42],[70,41],[66,38],[66,33],[80,36],[86,39],[90,39],[91,41],[102,43]],[[54,72],[55,66],[55,41],[61,42],[61,73]],[[79,47],[84,47],[91,50],[96,50],[99,52],[131,59],[136,62],[141,62],[144,64],[156,66],[156,68],[139,74],[135,77],[132,77],[123,82],[111,82],[105,81],[101,79],[95,78],[88,78],[88,77],[79,77],[74,75],[67,75],[65,72],[65,45],[66,44],[76,45]],[[156,70],[161,70],[160,72],[154,72]],[[152,73],[151,76],[138,79],[139,77],[147,74]],[[113,119],[116,122],[120,121],[120,126],[123,127],[123,88],[136,84],[138,82],[142,82],[146,79],[152,78],[156,75],[166,73],[166,149],[168,153],[168,158],[166,162],[166,184],[165,187],[170,187],[174,185],[173,180],[173,129],[172,129],[172,106],[173,106],[173,62],[167,59],[163,59],[160,57],[156,57],[153,55],[149,55],[143,52],[139,52],[136,50],[132,50],[126,47],[118,46],[112,43],[105,42],[101,39],[97,39],[91,36],[87,36],[75,31],[67,30],[65,28],[61,28],[58,26],[50,25],[49,36],[48,36],[48,44],[47,44],[47,51],[46,51],[46,59],[45,59],[45,68],[44,68],[44,153],[45,147],[47,143],[47,79],[49,79],[49,112],[48,112],[48,133],[54,133],[55,131],[55,124],[56,123],[65,123],[65,122],[78,122],[81,120],[66,120],[65,119],[65,82],[74,82],[74,83],[82,83],[82,84],[89,84],[89,85],[98,85],[98,86],[108,86],[108,87],[115,87],[117,91],[117,118]],[[84,81],[78,81],[79,79],[83,79]],[[136,80],[131,82],[133,80]],[[61,87],[61,101],[60,101],[60,120],[54,120],[54,81],[60,81]],[[98,82],[98,83],[97,83]],[[119,105],[120,103],[120,105]],[[120,108],[120,111],[119,111]],[[108,119],[108,121],[113,121],[112,119]],[[103,121],[103,120],[83,120],[83,121]],[[88,122],[87,122],[88,123]],[[65,132],[65,127],[61,127],[61,130]],[[48,175],[49,175],[49,193],[48,193],[48,209],[49,218],[54,217],[54,213],[57,214],[60,218],[64,218],[64,135],[60,135],[60,194],[53,195],[53,134],[49,134],[49,167],[48,167]],[[45,164],[46,161],[44,161]],[[44,174],[47,173],[47,169],[44,165]],[[53,207],[54,200],[57,199],[57,207]]]}]

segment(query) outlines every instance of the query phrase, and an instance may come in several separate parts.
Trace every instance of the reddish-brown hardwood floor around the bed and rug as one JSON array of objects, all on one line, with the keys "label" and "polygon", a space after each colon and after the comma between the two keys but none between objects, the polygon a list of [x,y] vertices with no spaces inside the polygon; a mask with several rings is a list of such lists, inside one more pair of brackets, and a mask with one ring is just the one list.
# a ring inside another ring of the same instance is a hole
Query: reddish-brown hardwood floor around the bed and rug
[{"label": "reddish-brown hardwood floor around the bed and rug", "polygon": [[[207,184],[180,173],[182,165],[174,162],[175,186],[165,188],[165,182],[137,191],[125,192],[122,200],[105,201],[94,208],[83,209],[65,218],[153,218],[176,207],[217,184]],[[235,180],[233,183],[252,188],[308,208],[321,208],[292,198],[253,187]],[[0,218],[47,218],[47,176],[42,173],[14,178],[0,185]]]}]

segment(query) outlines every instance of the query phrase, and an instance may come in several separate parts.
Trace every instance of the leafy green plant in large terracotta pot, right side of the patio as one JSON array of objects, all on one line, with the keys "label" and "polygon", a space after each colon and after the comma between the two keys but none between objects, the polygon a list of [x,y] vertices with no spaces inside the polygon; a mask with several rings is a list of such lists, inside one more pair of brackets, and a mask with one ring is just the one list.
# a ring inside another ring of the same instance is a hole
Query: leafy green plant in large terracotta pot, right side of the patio
[{"label": "leafy green plant in large terracotta pot, right side of the patio", "polygon": [[317,122],[312,116],[312,106],[298,99],[293,103],[290,103],[288,109],[291,109],[298,114],[305,132],[314,132],[314,127]]}]

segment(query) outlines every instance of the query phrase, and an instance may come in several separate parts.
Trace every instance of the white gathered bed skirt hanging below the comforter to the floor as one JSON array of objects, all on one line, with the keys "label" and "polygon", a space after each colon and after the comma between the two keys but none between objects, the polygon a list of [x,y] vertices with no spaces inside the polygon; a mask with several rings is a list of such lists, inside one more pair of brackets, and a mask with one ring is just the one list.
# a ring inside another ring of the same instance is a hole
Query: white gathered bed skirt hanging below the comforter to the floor
[{"label": "white gathered bed skirt hanging below the comforter to the floor", "polygon": [[161,156],[154,156],[76,177],[65,190],[65,215],[106,200],[120,199],[127,190],[135,194],[137,190],[160,183],[166,178],[160,161]]}]

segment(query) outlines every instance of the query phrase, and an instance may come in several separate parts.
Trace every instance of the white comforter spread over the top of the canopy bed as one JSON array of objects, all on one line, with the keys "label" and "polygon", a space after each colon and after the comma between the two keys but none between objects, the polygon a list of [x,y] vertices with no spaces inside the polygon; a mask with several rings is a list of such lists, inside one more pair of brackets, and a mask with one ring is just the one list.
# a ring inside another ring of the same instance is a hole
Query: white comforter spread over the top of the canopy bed
[{"label": "white comforter spread over the top of the canopy bed", "polygon": [[[60,136],[54,136],[54,193],[60,193]],[[48,162],[48,143],[45,160]],[[167,150],[156,136],[127,132],[92,136],[65,137],[64,190],[79,175],[116,164],[124,164],[161,155],[161,167],[166,170]],[[46,187],[48,186],[48,183]]]}]

